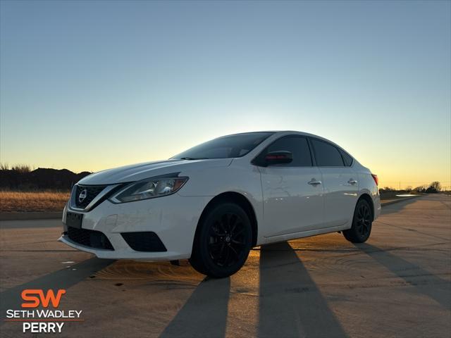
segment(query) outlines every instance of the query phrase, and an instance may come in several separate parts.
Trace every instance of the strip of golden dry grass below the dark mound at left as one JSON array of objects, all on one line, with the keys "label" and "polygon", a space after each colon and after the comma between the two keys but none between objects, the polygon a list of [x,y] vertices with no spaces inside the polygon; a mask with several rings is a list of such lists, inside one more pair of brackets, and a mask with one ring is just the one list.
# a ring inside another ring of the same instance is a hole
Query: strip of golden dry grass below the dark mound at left
[{"label": "strip of golden dry grass below the dark mound at left", "polygon": [[70,192],[0,191],[0,212],[62,211]]}]

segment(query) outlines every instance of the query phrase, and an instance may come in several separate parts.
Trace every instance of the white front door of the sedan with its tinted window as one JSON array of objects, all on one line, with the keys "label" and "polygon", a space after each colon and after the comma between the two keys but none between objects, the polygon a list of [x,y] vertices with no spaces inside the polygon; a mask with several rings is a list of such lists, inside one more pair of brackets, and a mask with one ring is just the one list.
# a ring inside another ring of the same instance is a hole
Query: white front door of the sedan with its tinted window
[{"label": "white front door of the sedan with its tinted window", "polygon": [[292,162],[259,167],[264,199],[264,224],[259,231],[268,238],[321,227],[321,172],[313,166],[307,138],[282,137],[260,156],[271,151],[290,151]]}]

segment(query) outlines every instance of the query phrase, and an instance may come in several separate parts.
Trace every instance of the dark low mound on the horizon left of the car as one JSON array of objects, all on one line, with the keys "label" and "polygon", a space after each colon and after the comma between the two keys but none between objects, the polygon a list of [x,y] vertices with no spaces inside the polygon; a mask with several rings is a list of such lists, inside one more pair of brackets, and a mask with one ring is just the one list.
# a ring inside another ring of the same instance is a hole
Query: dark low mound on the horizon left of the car
[{"label": "dark low mound on the horizon left of the car", "polygon": [[73,173],[67,169],[37,168],[32,170],[27,165],[0,165],[0,189],[35,190],[54,189],[68,190],[90,173]]}]

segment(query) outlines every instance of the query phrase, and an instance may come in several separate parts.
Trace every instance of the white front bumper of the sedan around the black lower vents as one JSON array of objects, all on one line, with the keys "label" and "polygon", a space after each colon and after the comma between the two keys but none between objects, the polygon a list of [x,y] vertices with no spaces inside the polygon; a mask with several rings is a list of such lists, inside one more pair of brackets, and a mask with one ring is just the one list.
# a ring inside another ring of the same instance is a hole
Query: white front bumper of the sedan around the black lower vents
[{"label": "white front bumper of the sedan around the black lower vents", "polygon": [[[113,250],[96,249],[74,242],[63,234],[58,240],[75,249],[94,253],[99,258],[169,261],[190,258],[194,233],[199,217],[209,202],[209,196],[180,196],[173,194],[156,199],[113,204],[104,201],[89,212],[82,213],[82,229],[102,232]],[[66,206],[63,213],[64,232],[67,233]],[[135,251],[125,239],[127,232],[154,232],[167,251]]]}]

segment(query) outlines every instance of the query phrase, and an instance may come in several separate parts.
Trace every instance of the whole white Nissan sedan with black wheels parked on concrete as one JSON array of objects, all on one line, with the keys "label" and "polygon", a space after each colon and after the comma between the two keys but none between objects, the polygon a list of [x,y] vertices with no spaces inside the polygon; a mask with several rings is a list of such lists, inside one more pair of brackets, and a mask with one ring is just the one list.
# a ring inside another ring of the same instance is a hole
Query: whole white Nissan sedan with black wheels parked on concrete
[{"label": "whole white Nissan sedan with black wheels parked on concrete", "polygon": [[365,242],[380,211],[377,176],[337,144],[247,132],[83,178],[59,240],[99,258],[189,258],[226,277],[253,246],[338,231]]}]

